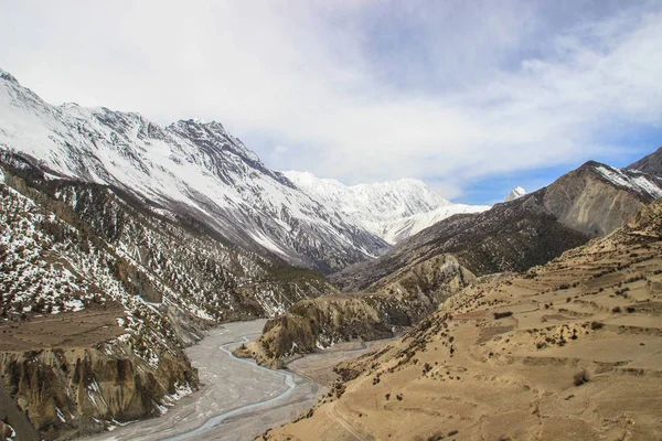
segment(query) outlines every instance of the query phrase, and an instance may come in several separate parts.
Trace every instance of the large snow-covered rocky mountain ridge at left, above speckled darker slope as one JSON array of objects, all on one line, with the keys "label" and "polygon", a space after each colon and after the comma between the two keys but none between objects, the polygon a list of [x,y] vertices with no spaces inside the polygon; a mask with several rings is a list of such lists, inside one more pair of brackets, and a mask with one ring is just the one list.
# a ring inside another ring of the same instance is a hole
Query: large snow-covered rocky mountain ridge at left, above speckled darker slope
[{"label": "large snow-covered rocky mountain ridge at left, above speckled darker slope", "polygon": [[220,122],[160,127],[135,112],[52,106],[0,71],[0,149],[55,176],[119,187],[289,263],[329,272],[387,247],[267,169]]}]

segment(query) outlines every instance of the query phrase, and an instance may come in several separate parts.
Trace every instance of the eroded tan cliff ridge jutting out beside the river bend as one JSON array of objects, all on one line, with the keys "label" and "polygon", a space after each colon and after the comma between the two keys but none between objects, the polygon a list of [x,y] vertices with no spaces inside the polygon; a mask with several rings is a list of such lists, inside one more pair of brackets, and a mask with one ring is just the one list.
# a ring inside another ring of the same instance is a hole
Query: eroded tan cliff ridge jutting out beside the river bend
[{"label": "eroded tan cliff ridge jutting out beside the river bend", "polygon": [[296,303],[269,320],[260,338],[239,355],[278,366],[277,358],[333,343],[391,337],[434,312],[476,278],[452,256],[437,256],[393,275],[371,293],[349,293]]}]

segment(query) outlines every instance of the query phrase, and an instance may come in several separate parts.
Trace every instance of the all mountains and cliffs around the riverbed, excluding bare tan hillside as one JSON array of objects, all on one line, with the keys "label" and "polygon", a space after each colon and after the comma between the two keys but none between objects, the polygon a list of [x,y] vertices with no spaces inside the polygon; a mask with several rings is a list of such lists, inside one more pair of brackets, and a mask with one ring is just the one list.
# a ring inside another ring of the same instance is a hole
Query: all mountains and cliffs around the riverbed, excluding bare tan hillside
[{"label": "all mountains and cliffs around the riverbed, excluding bare tan hillside", "polygon": [[632,222],[662,196],[661,157],[453,204],[417,180],[270,170],[220,122],[53,106],[0,71],[0,404],[76,437],[195,390],[183,348],[225,321],[271,318],[242,354],[271,366],[424,326],[484,276]]}]

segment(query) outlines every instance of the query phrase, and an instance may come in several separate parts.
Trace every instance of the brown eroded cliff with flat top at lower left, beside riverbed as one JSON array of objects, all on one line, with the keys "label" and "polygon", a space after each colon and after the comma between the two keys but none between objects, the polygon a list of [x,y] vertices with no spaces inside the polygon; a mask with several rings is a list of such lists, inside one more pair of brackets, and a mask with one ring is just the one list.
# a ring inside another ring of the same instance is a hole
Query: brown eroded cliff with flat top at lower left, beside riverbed
[{"label": "brown eroded cliff with flat top at lower left, beside riverbed", "polygon": [[183,357],[164,355],[150,364],[119,341],[87,348],[6,352],[0,354],[0,369],[4,389],[44,439],[161,415],[197,387],[197,373]]}]

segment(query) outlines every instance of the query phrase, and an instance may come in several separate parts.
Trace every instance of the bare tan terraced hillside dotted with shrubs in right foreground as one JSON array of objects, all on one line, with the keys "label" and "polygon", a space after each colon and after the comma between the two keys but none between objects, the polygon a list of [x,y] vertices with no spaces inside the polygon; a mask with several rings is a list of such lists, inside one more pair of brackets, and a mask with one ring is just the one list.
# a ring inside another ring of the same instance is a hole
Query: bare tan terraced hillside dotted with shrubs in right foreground
[{"label": "bare tan terraced hillside dotted with shrubs in right foreground", "polygon": [[519,275],[483,277],[401,341],[335,369],[266,440],[658,440],[662,202]]}]

